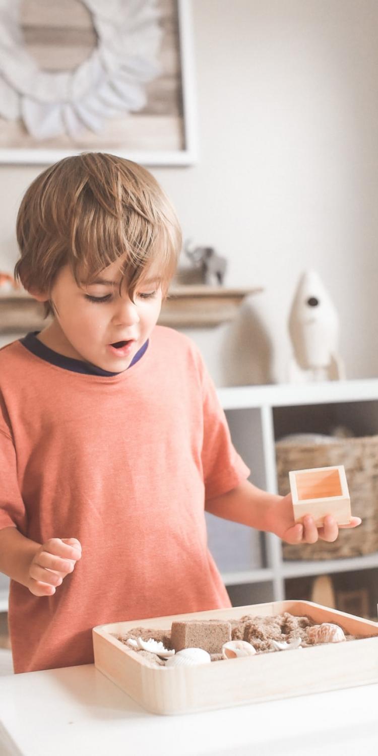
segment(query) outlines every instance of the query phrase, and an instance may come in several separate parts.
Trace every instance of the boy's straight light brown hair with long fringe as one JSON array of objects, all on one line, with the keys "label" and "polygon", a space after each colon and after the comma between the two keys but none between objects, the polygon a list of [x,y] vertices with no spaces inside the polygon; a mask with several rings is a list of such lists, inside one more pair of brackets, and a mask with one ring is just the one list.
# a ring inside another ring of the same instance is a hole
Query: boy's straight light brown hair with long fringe
[{"label": "boy's straight light brown hair with long fringe", "polygon": [[119,259],[129,296],[152,263],[165,295],[181,251],[181,229],[149,171],[92,152],[60,160],[30,184],[17,215],[17,241],[14,276],[31,293],[50,293],[64,265],[79,286]]}]

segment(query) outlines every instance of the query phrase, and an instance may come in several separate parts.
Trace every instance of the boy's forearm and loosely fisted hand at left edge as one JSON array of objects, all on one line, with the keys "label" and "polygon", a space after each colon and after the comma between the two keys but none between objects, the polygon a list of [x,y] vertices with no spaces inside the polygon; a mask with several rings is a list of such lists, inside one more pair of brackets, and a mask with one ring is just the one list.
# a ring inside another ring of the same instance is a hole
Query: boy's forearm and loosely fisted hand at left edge
[{"label": "boy's forearm and loosely fisted hand at left edge", "polygon": [[50,538],[37,544],[17,528],[0,530],[0,572],[17,581],[34,596],[51,596],[80,559],[76,538]]}]

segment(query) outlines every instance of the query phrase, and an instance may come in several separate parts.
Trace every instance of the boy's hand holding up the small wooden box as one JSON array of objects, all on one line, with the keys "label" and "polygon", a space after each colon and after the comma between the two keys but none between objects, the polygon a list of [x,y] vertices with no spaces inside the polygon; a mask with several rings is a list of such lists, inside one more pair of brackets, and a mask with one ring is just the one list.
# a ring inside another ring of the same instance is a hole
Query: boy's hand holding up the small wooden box
[{"label": "boy's hand holding up the small wooden box", "polygon": [[352,517],[349,525],[337,525],[332,515],[324,518],[324,525],[321,528],[316,527],[311,515],[305,516],[303,525],[300,522],[295,523],[291,494],[282,497],[274,505],[271,518],[272,531],[287,544],[315,544],[318,538],[321,538],[321,541],[336,541],[339,528],[355,528],[361,524],[360,517]]}]

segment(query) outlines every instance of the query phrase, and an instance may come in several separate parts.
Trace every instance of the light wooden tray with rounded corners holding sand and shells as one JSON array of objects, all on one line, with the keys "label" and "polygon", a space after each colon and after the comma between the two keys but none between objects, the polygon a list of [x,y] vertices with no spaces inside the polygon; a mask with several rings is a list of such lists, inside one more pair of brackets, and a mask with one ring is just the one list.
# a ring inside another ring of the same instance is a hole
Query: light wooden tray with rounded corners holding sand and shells
[{"label": "light wooden tray with rounded corners holding sand and shells", "polygon": [[[115,637],[132,627],[170,630],[173,619],[239,619],[283,612],[308,615],[318,624],[335,622],[350,634],[374,637],[173,668],[153,667]],[[309,601],[102,624],[93,629],[93,646],[98,670],[155,714],[206,711],[378,682],[378,624]]]}]

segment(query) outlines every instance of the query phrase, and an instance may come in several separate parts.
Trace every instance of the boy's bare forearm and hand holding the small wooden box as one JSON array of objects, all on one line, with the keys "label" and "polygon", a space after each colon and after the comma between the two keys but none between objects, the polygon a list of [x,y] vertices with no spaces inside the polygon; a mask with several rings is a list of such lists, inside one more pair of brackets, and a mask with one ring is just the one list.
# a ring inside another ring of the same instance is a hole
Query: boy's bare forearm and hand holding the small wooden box
[{"label": "boy's bare forearm and hand holding the small wooden box", "polygon": [[355,528],[361,522],[359,517],[352,517],[349,525],[338,526],[335,519],[328,515],[324,526],[316,528],[314,519],[308,515],[303,525],[295,523],[291,494],[267,494],[247,480],[227,494],[207,500],[205,509],[213,515],[249,525],[250,528],[271,531],[289,544],[314,544],[318,538],[336,541],[339,528]]}]

